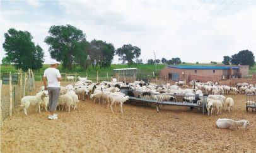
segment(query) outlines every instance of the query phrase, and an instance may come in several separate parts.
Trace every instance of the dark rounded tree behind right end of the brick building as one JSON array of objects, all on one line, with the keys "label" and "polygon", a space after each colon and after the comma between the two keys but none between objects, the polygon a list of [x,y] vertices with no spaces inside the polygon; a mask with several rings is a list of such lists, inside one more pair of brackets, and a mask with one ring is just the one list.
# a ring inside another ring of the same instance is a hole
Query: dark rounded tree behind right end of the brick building
[{"label": "dark rounded tree behind right end of the brick building", "polygon": [[242,50],[239,53],[231,56],[231,63],[233,65],[249,65],[250,67],[255,64],[254,55],[252,51]]}]

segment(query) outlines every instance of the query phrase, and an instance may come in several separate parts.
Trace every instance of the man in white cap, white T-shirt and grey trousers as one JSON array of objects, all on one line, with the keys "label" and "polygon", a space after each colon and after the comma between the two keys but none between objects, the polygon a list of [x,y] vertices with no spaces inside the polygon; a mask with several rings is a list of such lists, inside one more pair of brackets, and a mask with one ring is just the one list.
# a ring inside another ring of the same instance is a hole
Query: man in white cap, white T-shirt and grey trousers
[{"label": "man in white cap, white T-shirt and grey trousers", "polygon": [[[57,107],[57,103],[59,100],[59,92],[61,90],[61,73],[59,73],[59,70],[57,70],[57,66],[59,63],[56,60],[50,61],[50,68],[47,68],[44,71],[44,90],[48,90],[49,93],[49,111],[50,115],[48,119],[58,119],[58,115],[54,113]],[[48,81],[48,86],[47,82]]]}]

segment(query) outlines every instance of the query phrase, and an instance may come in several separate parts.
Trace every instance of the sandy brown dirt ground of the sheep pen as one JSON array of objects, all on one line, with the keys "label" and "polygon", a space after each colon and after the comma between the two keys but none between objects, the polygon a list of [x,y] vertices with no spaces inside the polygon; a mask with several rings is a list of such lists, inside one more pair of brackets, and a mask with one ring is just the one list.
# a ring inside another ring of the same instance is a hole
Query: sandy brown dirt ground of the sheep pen
[{"label": "sandy brown dirt ground of the sheep pen", "polygon": [[[91,100],[81,101],[79,110],[57,111],[57,120],[32,107],[28,116],[16,109],[1,128],[1,152],[255,152],[255,112],[246,112],[245,95],[226,97],[235,100],[233,112],[212,117],[187,107],[165,106],[157,113],[129,103],[123,114],[113,107],[113,114]],[[249,120],[250,129],[217,129],[219,118]]]}]

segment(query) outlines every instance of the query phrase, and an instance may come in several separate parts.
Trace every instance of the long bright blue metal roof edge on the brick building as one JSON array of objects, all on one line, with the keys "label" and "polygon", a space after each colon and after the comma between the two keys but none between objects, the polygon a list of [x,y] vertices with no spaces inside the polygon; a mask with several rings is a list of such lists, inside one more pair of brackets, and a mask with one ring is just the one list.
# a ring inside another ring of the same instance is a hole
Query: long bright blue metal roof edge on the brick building
[{"label": "long bright blue metal roof edge on the brick building", "polygon": [[238,70],[238,67],[233,66],[185,66],[185,65],[168,65],[169,68],[181,68],[181,69],[220,69],[220,70],[229,70],[232,68],[233,70]]}]

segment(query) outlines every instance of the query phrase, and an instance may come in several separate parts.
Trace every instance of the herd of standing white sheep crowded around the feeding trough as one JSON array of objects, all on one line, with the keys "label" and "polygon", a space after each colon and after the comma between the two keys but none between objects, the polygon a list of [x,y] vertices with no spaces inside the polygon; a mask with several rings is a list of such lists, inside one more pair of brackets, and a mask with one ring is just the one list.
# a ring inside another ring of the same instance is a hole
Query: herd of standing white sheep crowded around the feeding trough
[{"label": "herd of standing white sheep crowded around the feeding trough", "polygon": [[[175,85],[168,83],[166,85],[156,85],[156,83],[145,83],[143,81],[126,83],[117,82],[115,78],[112,78],[111,82],[103,81],[101,83],[93,83],[87,77],[79,77],[78,82],[61,87],[57,109],[67,110],[68,112],[71,108],[76,110],[79,100],[90,98],[94,100],[94,103],[96,100],[102,104],[108,103],[107,106],[110,105],[112,112],[113,104],[120,104],[120,111],[123,113],[122,105],[129,100],[129,97],[155,100],[156,102],[196,103],[197,105],[203,105],[204,100],[202,98],[207,97],[207,115],[212,115],[215,109],[218,115],[222,110],[228,110],[230,112],[234,105],[234,100],[231,97],[226,98],[224,95],[238,93],[255,94],[256,91],[255,86],[248,85],[248,83],[237,83],[236,87],[228,87],[226,85],[218,85],[218,83],[202,83],[193,80],[190,82],[190,85],[192,88],[187,88],[188,86],[182,81],[176,82]],[[124,89],[127,91],[126,94],[121,92]],[[42,108],[45,108],[47,111],[48,103],[48,92],[44,90],[44,87],[41,87],[40,92],[36,95],[26,96],[21,99],[21,107],[25,115],[27,115],[26,111],[30,105],[35,105],[37,108],[36,111],[38,112],[41,112]],[[247,101],[246,104],[252,105],[255,102]],[[153,104],[151,103],[151,105]],[[219,120],[219,122],[221,121]]]}]

